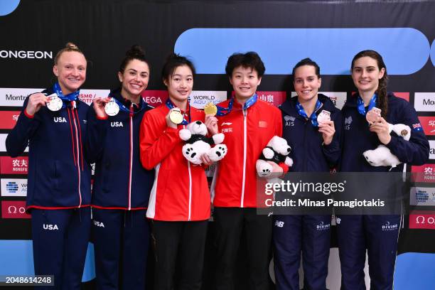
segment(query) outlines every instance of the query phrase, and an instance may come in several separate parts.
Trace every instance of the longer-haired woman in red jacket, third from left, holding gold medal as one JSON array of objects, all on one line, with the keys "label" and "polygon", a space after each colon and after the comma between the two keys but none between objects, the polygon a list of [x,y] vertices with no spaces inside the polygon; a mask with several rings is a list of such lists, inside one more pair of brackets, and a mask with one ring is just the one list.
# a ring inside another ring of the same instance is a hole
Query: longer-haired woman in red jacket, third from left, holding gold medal
[{"label": "longer-haired woman in red jacket, third from left, holding gold medal", "polygon": [[[162,71],[168,100],[146,112],[141,124],[141,163],[146,169],[156,169],[146,216],[153,220],[154,289],[159,290],[200,289],[202,283],[210,192],[204,168],[184,158],[184,142],[178,135],[186,124],[204,122],[204,112],[188,103],[194,75],[190,60],[170,55]],[[170,118],[176,108],[183,115],[183,122],[178,125]],[[209,160],[203,157],[203,161],[208,165]],[[180,266],[178,283],[173,281],[176,264]]]}]

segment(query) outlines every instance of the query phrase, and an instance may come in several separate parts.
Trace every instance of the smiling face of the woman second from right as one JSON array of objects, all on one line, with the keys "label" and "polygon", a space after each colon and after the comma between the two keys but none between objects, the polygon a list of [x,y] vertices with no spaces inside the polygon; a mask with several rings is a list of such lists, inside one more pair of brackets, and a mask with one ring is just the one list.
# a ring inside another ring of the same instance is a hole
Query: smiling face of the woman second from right
[{"label": "smiling face of the woman second from right", "polygon": [[302,65],[294,71],[293,84],[299,102],[317,100],[321,83],[322,79],[316,75],[316,68],[313,65]]}]

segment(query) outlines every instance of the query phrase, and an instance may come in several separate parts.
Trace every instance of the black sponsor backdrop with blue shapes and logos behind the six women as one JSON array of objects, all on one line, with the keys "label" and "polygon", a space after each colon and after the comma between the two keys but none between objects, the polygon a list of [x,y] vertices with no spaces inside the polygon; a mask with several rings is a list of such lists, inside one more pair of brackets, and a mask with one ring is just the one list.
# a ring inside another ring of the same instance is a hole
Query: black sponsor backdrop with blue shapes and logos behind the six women
[{"label": "black sponsor backdrop with blue shapes and logos behind the six women", "polygon": [[[0,274],[32,274],[31,230],[24,212],[27,154],[6,156],[4,141],[26,96],[53,84],[55,53],[73,41],[89,60],[80,98],[90,103],[118,85],[125,51],[142,45],[151,63],[146,102],[159,105],[167,93],[160,70],[176,51],[198,68],[191,103],[203,107],[231,96],[225,76],[227,57],[256,50],[266,75],[259,97],[279,105],[294,95],[291,68],[310,57],[321,66],[321,91],[339,108],[355,91],[350,60],[363,49],[378,50],[390,74],[389,89],[417,110],[431,140],[431,159],[408,166],[420,173],[409,191],[412,211],[399,237],[395,289],[431,289],[435,274],[435,2],[434,1],[139,1],[3,0],[0,4]],[[370,3],[367,3],[370,2]],[[335,233],[335,226],[332,226]],[[213,283],[213,222],[205,261],[204,289]],[[339,289],[335,237],[328,288]],[[90,243],[83,281],[95,277]],[[237,283],[246,289],[243,263]],[[152,263],[151,263],[152,266]],[[152,268],[152,267],[151,267]],[[271,271],[272,273],[273,271]],[[273,273],[272,273],[273,276]],[[271,279],[271,285],[273,285]]]}]

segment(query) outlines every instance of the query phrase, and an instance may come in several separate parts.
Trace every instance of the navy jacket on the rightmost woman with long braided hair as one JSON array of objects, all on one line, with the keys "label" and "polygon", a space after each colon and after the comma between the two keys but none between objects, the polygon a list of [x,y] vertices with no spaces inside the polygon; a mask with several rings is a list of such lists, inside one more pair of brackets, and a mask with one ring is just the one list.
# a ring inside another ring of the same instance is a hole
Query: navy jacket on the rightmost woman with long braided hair
[{"label": "navy jacket on the rightmost woman with long braided hair", "polygon": [[[380,145],[377,134],[369,131],[365,116],[358,112],[358,94],[346,101],[343,113],[343,156],[340,161],[340,171],[345,172],[385,172],[390,166],[371,166],[364,158],[363,152],[375,149]],[[411,139],[405,141],[394,136],[387,147],[399,161],[412,165],[424,164],[429,159],[429,142],[424,131],[419,127],[417,112],[409,102],[388,94],[388,111],[385,118],[390,124],[406,124],[411,127]],[[413,126],[414,125],[414,126]],[[417,128],[417,129],[416,129]],[[420,128],[421,130],[419,130]],[[403,163],[392,168],[392,171],[403,171]]]}]

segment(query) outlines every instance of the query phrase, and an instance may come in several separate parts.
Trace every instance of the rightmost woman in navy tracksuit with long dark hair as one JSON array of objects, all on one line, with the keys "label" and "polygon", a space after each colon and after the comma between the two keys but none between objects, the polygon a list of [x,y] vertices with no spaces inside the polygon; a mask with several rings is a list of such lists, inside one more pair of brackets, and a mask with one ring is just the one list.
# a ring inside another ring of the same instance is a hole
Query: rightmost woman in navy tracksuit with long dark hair
[{"label": "rightmost woman in navy tracksuit with long dark hair", "polygon": [[[351,66],[358,93],[343,107],[343,156],[340,171],[387,172],[388,166],[370,166],[363,152],[384,144],[399,161],[421,165],[429,158],[429,143],[421,129],[414,108],[405,100],[387,93],[387,69],[381,55],[364,50],[355,55]],[[369,126],[365,115],[377,107],[382,117]],[[407,124],[411,139],[392,136],[390,124]],[[392,171],[401,172],[403,164]],[[385,230],[383,225],[391,225]],[[367,249],[370,289],[392,289],[394,263],[399,235],[399,215],[339,215],[337,217],[338,247],[342,289],[365,289],[364,265]]]}]

